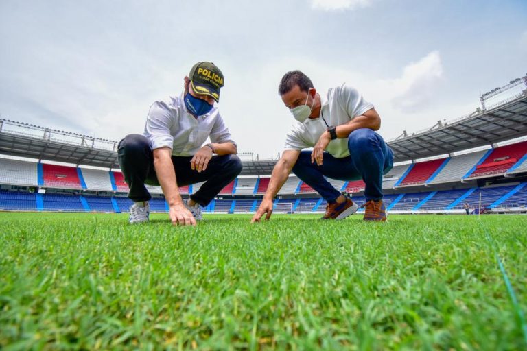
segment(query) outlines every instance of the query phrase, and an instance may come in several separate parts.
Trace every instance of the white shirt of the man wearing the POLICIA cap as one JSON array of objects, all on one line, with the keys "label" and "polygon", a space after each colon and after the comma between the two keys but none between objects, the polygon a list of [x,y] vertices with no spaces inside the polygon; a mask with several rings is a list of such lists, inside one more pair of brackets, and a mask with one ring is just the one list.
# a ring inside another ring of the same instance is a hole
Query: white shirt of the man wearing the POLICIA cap
[{"label": "white shirt of the man wearing the POLICIA cap", "polygon": [[193,156],[210,136],[212,143],[234,141],[217,104],[197,119],[187,112],[183,94],[169,101],[156,101],[148,111],[145,132],[150,147],[169,147],[174,156]]}]

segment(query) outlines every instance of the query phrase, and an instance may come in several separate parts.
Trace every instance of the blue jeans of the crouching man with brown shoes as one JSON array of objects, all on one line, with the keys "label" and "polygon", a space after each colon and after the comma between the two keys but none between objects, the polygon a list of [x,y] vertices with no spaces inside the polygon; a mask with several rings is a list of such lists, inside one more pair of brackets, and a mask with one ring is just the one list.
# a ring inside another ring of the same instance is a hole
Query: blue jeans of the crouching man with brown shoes
[{"label": "blue jeans of the crouching man with brown shoes", "polygon": [[321,166],[311,162],[311,151],[303,151],[293,167],[293,173],[331,203],[340,196],[324,178],[364,180],[366,201],[382,199],[382,175],[393,167],[393,152],[376,132],[368,128],[354,130],[348,137],[350,156],[336,158],[324,152]]}]

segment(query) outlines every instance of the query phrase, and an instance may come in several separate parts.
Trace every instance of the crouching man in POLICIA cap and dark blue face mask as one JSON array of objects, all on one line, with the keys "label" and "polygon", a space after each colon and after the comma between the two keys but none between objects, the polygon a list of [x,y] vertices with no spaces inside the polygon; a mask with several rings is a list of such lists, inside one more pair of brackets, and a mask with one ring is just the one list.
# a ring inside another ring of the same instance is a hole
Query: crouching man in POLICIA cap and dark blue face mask
[{"label": "crouching man in POLICIA cap and dark blue face mask", "polygon": [[[145,131],[119,142],[119,165],[130,187],[130,223],[146,222],[150,193],[145,184],[161,185],[174,225],[196,225],[200,206],[207,206],[242,171],[237,145],[218,111],[220,69],[198,62],[179,97],[156,101],[148,111]],[[211,143],[205,144],[207,138]],[[183,201],[178,186],[204,182]]]}]

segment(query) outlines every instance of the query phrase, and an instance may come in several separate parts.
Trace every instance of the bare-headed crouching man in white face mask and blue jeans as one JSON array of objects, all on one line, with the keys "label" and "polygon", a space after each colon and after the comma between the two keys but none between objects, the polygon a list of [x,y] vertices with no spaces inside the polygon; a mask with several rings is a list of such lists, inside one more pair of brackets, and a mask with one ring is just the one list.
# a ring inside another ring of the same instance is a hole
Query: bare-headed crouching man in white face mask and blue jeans
[{"label": "bare-headed crouching man in white face mask and blue jeans", "polygon": [[[260,221],[263,215],[270,218],[272,199],[291,171],[327,201],[323,219],[344,219],[358,210],[358,205],[335,189],[327,177],[364,180],[364,220],[386,221],[382,176],[393,167],[393,152],[375,132],[381,118],[373,105],[348,84],[331,88],[327,94],[317,93],[301,71],[285,73],[278,90],[296,121],[252,221]],[[313,150],[306,150],[309,147]]]}]

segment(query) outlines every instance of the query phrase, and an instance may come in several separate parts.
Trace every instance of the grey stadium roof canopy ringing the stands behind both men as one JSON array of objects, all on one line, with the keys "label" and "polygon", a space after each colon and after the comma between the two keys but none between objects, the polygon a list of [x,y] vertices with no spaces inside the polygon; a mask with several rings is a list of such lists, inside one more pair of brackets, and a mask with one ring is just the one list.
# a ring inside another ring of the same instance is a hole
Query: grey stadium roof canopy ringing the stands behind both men
[{"label": "grey stadium roof canopy ringing the stands behind both men", "polygon": [[[504,90],[519,88],[519,93],[487,108],[489,99]],[[483,145],[493,145],[527,136],[527,75],[495,88],[480,97],[482,108],[465,117],[442,123],[428,130],[388,141],[395,162],[451,154]],[[0,154],[119,168],[117,141],[82,134],[51,130],[27,123],[0,119]],[[276,160],[244,161],[242,175],[269,175]]]}]

